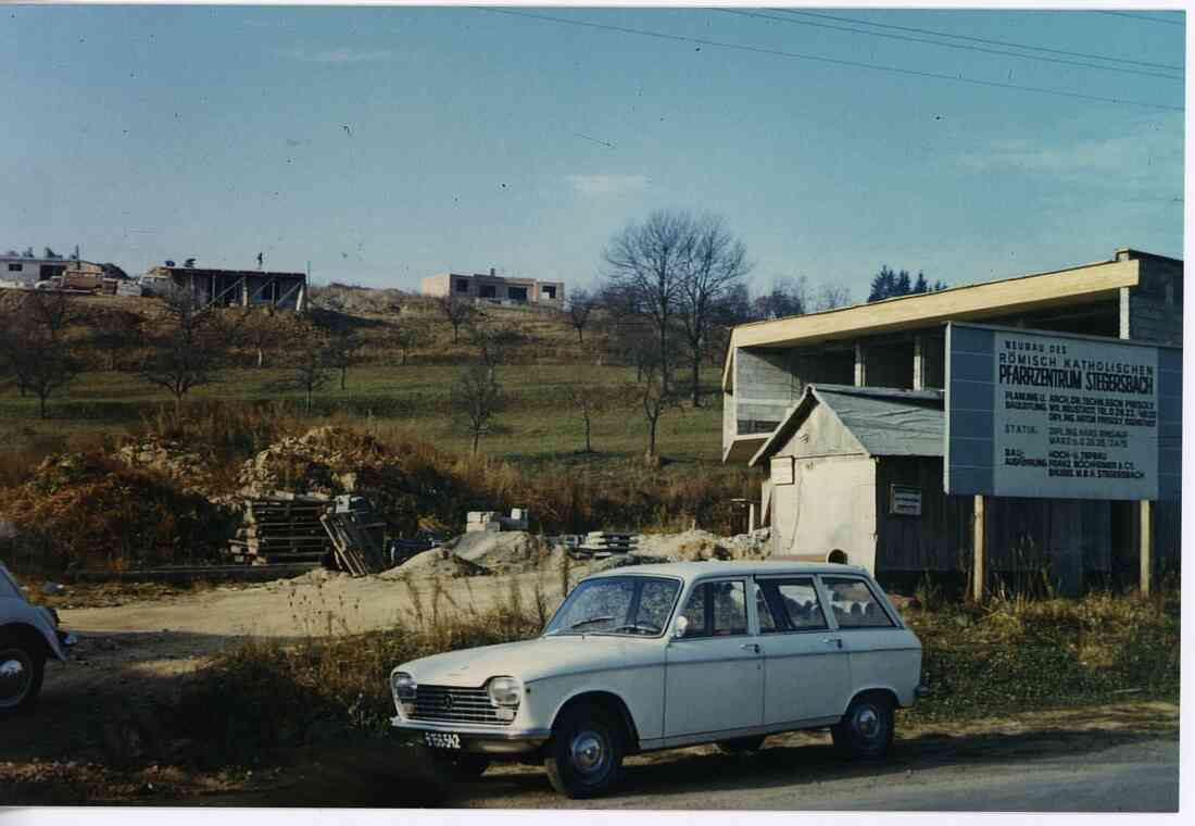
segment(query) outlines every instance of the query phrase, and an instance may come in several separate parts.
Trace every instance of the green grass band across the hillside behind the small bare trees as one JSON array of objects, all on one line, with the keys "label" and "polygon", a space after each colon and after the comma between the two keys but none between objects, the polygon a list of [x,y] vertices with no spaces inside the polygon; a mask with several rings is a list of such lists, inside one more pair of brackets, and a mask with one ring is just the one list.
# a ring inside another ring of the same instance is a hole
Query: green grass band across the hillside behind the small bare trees
[{"label": "green grass band across the hillside behind the small bare trees", "polygon": [[[378,427],[403,427],[447,451],[467,452],[468,434],[451,418],[449,393],[460,367],[367,365],[349,372],[347,388],[337,381],[319,391],[312,423],[329,417],[349,417]],[[238,368],[220,374],[215,384],[196,388],[190,403],[217,399],[240,403],[283,403],[294,414],[302,411],[302,396],[274,388],[287,375],[278,368]],[[658,445],[669,460],[713,470],[721,466],[722,400],[717,372],[707,371],[705,406],[670,410],[661,420]],[[575,411],[562,398],[570,383],[583,380],[599,386],[618,408],[596,417],[593,429],[598,457],[578,455],[582,430]],[[642,457],[646,424],[641,409],[629,398],[626,386],[635,369],[594,365],[516,365],[498,368],[498,381],[510,397],[509,409],[498,418],[500,432],[483,438],[488,455],[537,467],[593,466]],[[71,434],[125,433],[143,416],[171,404],[170,397],[130,373],[85,373],[61,396],[50,399],[49,418],[37,417],[37,400],[22,398],[14,390],[0,392],[0,421],[7,432],[7,449],[39,438],[62,440]]]}]

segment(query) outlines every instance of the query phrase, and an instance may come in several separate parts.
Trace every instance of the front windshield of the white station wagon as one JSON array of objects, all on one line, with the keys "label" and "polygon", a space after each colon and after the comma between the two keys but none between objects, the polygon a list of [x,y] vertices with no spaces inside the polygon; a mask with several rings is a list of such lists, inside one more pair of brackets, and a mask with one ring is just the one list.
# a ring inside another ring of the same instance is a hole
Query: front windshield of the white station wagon
[{"label": "front windshield of the white station wagon", "polygon": [[544,636],[617,634],[658,637],[668,626],[678,580],[603,576],[578,585],[544,629]]}]

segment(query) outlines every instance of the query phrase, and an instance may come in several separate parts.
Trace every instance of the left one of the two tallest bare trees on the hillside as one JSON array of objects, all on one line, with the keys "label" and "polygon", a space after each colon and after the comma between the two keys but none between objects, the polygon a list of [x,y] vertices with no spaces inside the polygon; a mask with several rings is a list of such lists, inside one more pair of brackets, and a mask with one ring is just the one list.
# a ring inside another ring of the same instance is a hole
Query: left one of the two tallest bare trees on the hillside
[{"label": "left one of the two tallest bare trees on the hillside", "polygon": [[619,310],[645,316],[652,322],[664,385],[670,378],[668,335],[695,227],[697,222],[687,212],[656,210],[643,224],[627,224],[602,253],[611,287],[606,295],[619,300]]}]

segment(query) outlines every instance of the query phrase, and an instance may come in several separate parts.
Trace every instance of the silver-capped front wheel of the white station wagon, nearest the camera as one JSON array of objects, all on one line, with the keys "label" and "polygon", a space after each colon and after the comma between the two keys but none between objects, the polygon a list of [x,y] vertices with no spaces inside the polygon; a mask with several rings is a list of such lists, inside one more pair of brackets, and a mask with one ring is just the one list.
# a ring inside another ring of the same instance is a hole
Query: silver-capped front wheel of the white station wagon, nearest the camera
[{"label": "silver-capped front wheel of the white station wagon, nearest the camera", "polygon": [[568,797],[606,794],[623,770],[623,727],[600,705],[565,710],[552,727],[544,769],[552,787]]}]

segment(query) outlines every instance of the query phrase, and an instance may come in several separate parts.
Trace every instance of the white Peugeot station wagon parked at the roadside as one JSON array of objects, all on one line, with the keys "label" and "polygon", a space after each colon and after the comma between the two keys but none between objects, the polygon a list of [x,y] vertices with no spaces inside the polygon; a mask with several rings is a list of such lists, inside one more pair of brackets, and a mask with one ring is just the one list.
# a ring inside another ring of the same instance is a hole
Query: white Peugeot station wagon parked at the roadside
[{"label": "white Peugeot station wagon parked at the roadside", "polygon": [[921,643],[862,568],[688,562],[582,580],[541,636],[423,657],[391,673],[393,727],[459,775],[543,759],[569,797],[627,754],[828,727],[864,758],[921,696]]}]

